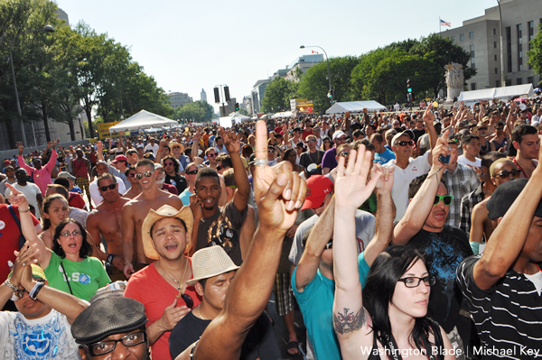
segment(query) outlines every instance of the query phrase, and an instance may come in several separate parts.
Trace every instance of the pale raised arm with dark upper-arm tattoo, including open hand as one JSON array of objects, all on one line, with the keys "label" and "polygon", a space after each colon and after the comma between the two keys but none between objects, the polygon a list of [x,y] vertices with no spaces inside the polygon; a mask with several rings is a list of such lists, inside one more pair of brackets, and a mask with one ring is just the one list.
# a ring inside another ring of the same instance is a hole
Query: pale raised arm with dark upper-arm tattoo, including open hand
[{"label": "pale raised arm with dark upper-arm tattoo, including open hand", "polygon": [[[344,359],[360,358],[360,346],[367,344],[368,335],[372,334],[365,331],[369,314],[363,309],[361,300],[354,221],[356,209],[369,198],[382,175],[379,168],[376,168],[372,178],[367,182],[370,162],[371,153],[365,152],[365,146],[361,145],[358,152],[351,150],[350,162],[346,169],[344,158],[339,159],[335,180],[333,328]],[[372,340],[372,337],[370,339]]]}]

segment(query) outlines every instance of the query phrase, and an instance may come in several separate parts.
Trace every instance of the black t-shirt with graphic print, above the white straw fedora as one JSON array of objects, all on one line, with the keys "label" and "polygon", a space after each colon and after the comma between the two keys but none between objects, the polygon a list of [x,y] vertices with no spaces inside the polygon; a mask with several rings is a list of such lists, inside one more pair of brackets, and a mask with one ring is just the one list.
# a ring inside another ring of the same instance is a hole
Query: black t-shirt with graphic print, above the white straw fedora
[{"label": "black t-shirt with graphic print, above the white straw fedora", "polygon": [[209,246],[220,245],[238,266],[243,263],[239,234],[247,217],[247,208],[240,213],[233,200],[212,217],[203,217],[198,228],[196,251]]}]

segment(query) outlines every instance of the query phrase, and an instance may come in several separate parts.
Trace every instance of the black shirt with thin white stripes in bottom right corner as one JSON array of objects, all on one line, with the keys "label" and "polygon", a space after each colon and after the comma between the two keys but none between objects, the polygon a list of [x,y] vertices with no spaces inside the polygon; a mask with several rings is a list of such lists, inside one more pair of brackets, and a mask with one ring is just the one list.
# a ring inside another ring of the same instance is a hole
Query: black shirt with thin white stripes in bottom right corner
[{"label": "black shirt with thin white stripes in bottom right corner", "polygon": [[456,278],[463,292],[463,308],[471,312],[480,336],[482,347],[476,351],[485,359],[534,358],[528,351],[542,349],[542,300],[535,284],[524,274],[509,270],[491,289],[482,291],[473,279],[474,264],[480,258],[465,259]]}]

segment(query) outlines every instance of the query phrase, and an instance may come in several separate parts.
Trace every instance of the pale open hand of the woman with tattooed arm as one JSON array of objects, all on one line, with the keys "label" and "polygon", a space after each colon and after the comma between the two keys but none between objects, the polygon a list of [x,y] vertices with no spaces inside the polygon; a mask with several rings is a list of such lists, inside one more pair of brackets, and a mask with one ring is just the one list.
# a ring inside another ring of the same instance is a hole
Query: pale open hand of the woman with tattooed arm
[{"label": "pale open hand of the woman with tattooed arm", "polygon": [[344,157],[339,158],[335,178],[336,208],[359,208],[370,197],[382,176],[381,168],[375,167],[368,181],[371,156],[365,151],[365,145],[360,145],[357,152],[350,150],[350,162],[346,168]]}]

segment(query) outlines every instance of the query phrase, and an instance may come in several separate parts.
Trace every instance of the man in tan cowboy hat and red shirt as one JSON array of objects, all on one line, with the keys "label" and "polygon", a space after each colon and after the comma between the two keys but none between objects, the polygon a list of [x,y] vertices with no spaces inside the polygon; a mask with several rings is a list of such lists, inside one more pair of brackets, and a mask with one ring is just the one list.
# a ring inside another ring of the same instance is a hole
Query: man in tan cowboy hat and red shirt
[{"label": "man in tan cowboy hat and red shirt", "polygon": [[190,208],[178,210],[169,205],[156,211],[151,209],[143,220],[141,248],[154,263],[132,275],[125,296],[145,306],[150,324],[146,335],[153,359],[171,360],[169,337],[172,329],[201,302],[194,287],[186,284],[193,277],[192,262],[184,255],[193,223]]}]

